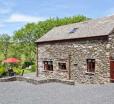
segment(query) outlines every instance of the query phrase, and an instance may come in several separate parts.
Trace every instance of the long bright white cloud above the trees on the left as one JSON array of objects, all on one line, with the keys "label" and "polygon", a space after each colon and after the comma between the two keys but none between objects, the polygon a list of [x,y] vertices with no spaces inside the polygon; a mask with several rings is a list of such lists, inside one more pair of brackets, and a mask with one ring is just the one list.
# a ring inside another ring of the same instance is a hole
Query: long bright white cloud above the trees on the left
[{"label": "long bright white cloud above the trees on the left", "polygon": [[12,14],[6,22],[38,22],[43,21],[46,18],[35,17],[24,14]]}]

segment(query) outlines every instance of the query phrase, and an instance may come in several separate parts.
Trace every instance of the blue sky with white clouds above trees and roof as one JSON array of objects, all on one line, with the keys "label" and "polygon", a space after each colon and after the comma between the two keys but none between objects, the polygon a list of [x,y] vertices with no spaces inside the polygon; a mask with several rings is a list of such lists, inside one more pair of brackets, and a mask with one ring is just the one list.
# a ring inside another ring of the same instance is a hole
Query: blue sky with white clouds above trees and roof
[{"label": "blue sky with white clouds above trees and roof", "polygon": [[113,15],[114,0],[0,0],[0,34],[12,35],[28,22],[78,14],[90,18]]}]

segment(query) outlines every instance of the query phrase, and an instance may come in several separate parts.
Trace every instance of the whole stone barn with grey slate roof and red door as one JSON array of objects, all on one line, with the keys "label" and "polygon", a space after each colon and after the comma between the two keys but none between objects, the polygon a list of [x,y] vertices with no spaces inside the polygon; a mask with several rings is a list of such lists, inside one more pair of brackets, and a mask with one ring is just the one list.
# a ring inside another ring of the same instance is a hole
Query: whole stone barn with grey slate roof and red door
[{"label": "whole stone barn with grey slate roof and red door", "polygon": [[37,76],[76,83],[114,80],[114,16],[54,27],[37,43]]}]

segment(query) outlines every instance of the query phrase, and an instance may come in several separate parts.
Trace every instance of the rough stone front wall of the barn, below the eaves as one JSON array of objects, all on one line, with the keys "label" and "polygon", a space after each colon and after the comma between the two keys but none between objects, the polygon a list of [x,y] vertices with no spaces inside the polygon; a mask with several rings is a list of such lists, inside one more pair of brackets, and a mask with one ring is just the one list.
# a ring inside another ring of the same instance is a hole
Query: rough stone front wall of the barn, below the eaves
[{"label": "rough stone front wall of the barn, below the eaves", "polygon": [[[69,55],[71,79],[77,83],[107,83],[109,75],[110,43],[108,40],[78,40],[39,44],[38,69],[39,74],[50,78],[68,79]],[[86,59],[95,59],[95,73],[87,73]],[[53,61],[53,72],[45,72],[43,61]],[[58,62],[67,64],[67,71],[58,68]]]}]

